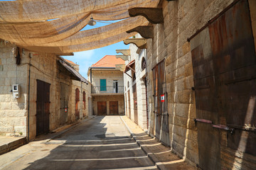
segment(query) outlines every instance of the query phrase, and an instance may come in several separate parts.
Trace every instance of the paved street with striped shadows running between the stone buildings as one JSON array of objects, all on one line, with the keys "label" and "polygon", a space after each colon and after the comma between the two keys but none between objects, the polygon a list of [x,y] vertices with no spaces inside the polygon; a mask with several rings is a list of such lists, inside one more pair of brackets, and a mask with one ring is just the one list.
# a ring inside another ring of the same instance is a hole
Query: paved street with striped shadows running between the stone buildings
[{"label": "paved street with striped shadows running between the stone buildings", "polygon": [[119,116],[97,116],[54,140],[0,156],[0,169],[156,169]]}]

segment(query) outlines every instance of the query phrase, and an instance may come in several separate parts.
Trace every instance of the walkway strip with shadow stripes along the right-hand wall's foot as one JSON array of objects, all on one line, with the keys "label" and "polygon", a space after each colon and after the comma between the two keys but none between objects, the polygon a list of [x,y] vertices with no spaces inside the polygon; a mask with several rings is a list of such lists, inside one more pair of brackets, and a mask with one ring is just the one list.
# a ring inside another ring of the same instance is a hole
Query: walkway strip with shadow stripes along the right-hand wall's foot
[{"label": "walkway strip with shadow stripes along the right-hand wall's foot", "polygon": [[146,134],[138,125],[127,118],[127,116],[120,117],[139,147],[142,148],[158,169],[196,169],[196,167],[187,164],[183,159],[172,153],[169,147],[162,145],[161,142]]}]

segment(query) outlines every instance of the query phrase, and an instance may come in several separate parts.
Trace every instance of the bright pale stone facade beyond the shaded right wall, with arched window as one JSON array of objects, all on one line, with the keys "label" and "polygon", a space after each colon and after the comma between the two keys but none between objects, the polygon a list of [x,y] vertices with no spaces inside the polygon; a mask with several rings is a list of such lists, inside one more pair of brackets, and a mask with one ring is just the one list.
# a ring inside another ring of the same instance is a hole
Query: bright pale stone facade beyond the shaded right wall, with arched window
[{"label": "bright pale stone facade beyond the shaded right wall, with arched window", "polygon": [[[136,38],[142,38],[136,35]],[[149,112],[146,103],[146,50],[136,45],[129,46],[130,57],[127,57],[124,70],[124,98],[126,115],[143,130],[149,128]],[[131,69],[129,69],[131,67]]]}]

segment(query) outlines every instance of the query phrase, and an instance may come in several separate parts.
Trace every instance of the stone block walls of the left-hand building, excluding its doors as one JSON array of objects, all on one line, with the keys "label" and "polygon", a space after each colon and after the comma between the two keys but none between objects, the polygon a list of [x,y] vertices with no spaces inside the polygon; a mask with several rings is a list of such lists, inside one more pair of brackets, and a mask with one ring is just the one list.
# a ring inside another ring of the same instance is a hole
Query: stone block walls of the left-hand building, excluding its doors
[{"label": "stone block walls of the left-hand building, excluding its doors", "polygon": [[[68,121],[75,121],[75,100],[72,94],[79,87],[85,91],[86,108],[82,108],[80,103],[81,115],[89,115],[90,84],[80,81],[73,81],[68,72],[59,62],[60,57],[54,54],[42,52],[30,52],[21,50],[21,64],[16,64],[16,54],[12,50],[16,49],[4,40],[0,41],[0,133],[9,135],[14,133],[28,135],[28,87],[30,89],[29,101],[29,139],[36,137],[36,101],[37,101],[37,80],[50,84],[50,114],[49,130],[60,127],[60,84],[68,86]],[[31,64],[30,64],[31,63]],[[29,82],[30,69],[30,84]],[[14,98],[10,92],[12,84],[19,84],[20,97]],[[29,84],[29,85],[28,85]],[[82,101],[82,95],[80,96]]]}]

